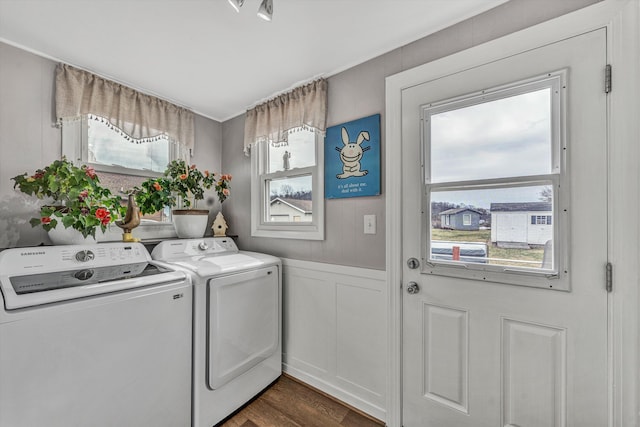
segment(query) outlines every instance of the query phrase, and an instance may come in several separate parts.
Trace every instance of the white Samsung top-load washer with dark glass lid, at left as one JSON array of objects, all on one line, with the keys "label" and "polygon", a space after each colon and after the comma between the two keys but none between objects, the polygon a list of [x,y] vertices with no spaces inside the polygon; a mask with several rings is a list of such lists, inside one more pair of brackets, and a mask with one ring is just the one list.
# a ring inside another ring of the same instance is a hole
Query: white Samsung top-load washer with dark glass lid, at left
[{"label": "white Samsung top-load washer with dark glass lid, at left", "polygon": [[190,426],[192,289],[139,243],[0,252],[0,426]]}]

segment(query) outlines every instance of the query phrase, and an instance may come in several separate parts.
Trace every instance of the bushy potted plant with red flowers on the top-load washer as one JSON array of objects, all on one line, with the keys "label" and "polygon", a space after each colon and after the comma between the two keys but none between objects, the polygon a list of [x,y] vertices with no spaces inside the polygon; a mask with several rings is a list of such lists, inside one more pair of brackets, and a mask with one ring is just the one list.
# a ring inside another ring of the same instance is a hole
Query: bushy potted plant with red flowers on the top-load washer
[{"label": "bushy potted plant with red flowers on the top-load washer", "polygon": [[[104,232],[122,213],[120,198],[100,185],[92,167],[76,166],[64,157],[31,175],[11,179],[14,188],[46,201],[40,216],[29,222],[33,227],[42,226],[54,244],[83,243],[89,236],[95,239],[98,228]],[[75,230],[78,237],[66,237],[69,233],[63,234],[64,230]]]}]

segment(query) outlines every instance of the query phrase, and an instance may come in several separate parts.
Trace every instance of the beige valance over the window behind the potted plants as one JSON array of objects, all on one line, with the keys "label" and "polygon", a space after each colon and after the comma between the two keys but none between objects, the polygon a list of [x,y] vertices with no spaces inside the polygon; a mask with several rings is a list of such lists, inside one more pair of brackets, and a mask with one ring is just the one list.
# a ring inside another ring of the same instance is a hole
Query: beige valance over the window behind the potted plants
[{"label": "beige valance over the window behind the potted plants", "polygon": [[58,64],[56,117],[61,120],[85,114],[104,117],[136,140],[150,141],[166,133],[193,149],[193,112],[87,71]]}]

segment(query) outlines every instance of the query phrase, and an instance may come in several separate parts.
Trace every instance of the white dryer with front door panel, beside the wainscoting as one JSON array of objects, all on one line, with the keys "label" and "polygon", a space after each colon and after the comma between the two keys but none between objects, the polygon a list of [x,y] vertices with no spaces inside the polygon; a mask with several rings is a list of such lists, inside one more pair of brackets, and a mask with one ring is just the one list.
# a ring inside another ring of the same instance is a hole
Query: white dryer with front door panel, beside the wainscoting
[{"label": "white dryer with front door panel, beside the wainscoting", "polygon": [[211,427],[282,372],[280,259],[228,237],[164,241],[151,256],[192,277],[193,426]]}]

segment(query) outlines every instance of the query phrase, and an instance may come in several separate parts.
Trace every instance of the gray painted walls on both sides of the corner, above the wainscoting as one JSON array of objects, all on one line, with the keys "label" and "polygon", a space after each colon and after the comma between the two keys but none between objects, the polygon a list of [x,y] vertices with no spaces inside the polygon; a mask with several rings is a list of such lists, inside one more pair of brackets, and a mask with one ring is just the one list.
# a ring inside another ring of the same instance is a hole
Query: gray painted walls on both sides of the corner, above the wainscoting
[{"label": "gray painted walls on both sides of the corner, above the wainscoting", "polygon": [[[382,176],[385,77],[505,34],[579,9],[597,0],[512,0],[493,10],[391,51],[329,78],[328,126],[382,113]],[[47,242],[32,229],[32,198],[13,191],[11,177],[32,172],[60,157],[60,130],[53,127],[55,62],[0,42],[0,248]],[[122,76],[126,78],[126,76]],[[224,204],[229,233],[243,249],[278,256],[373,269],[385,268],[385,188],[378,197],[325,201],[326,239],[302,241],[250,237],[250,160],[242,153],[244,115],[223,124],[196,117],[194,163],[234,175]],[[222,168],[221,165],[224,165]],[[210,193],[212,215],[219,205]],[[363,215],[377,217],[377,234],[363,234]]]}]

